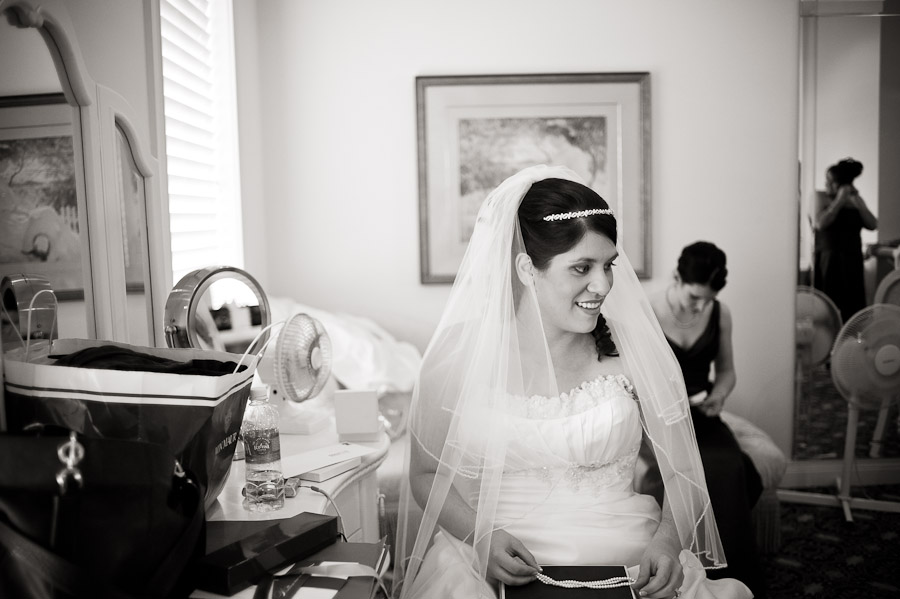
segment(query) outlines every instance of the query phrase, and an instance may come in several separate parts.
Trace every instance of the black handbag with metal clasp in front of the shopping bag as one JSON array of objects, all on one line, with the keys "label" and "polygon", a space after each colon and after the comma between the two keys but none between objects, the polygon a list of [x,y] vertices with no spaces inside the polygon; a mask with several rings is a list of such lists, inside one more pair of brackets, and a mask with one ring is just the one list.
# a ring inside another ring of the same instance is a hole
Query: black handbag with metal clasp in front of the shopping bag
[{"label": "black handbag with metal clasp in front of the shopping bag", "polygon": [[204,527],[161,445],[0,434],[0,597],[185,597]]}]

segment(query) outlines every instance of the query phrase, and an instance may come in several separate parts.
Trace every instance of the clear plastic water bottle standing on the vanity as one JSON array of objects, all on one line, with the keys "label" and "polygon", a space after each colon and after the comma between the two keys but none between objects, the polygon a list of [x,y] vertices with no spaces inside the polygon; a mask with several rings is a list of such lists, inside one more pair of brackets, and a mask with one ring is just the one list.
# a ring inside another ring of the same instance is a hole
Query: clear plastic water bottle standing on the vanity
[{"label": "clear plastic water bottle standing on the vanity", "polygon": [[246,464],[246,507],[251,512],[271,512],[284,507],[284,475],[281,472],[281,438],[278,410],[269,403],[264,387],[250,389],[250,403],[241,424]]}]

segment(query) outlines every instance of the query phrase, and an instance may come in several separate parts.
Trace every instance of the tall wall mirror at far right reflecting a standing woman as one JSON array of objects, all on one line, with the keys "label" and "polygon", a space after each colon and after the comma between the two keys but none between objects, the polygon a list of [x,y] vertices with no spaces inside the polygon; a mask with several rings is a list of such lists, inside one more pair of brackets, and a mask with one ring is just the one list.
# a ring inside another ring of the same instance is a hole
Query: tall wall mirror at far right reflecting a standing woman
[{"label": "tall wall mirror at far right reflecting a standing woman", "polygon": [[[847,398],[834,383],[838,366],[829,350],[840,324],[853,317],[834,324],[833,307],[841,300],[825,293],[825,277],[816,269],[819,260],[818,270],[823,270],[825,227],[818,220],[823,198],[829,193],[836,197],[826,180],[829,167],[846,158],[863,166],[853,186],[877,219],[874,230],[863,227],[859,232],[866,304],[873,303],[879,285],[900,267],[895,258],[900,245],[900,15],[891,6],[863,0],[801,1],[794,460],[842,459],[847,431]],[[853,285],[850,278],[843,282],[845,288]],[[886,467],[894,461],[900,464],[897,411],[894,404],[860,413],[854,455],[862,458],[856,463],[862,476],[896,470]]]}]

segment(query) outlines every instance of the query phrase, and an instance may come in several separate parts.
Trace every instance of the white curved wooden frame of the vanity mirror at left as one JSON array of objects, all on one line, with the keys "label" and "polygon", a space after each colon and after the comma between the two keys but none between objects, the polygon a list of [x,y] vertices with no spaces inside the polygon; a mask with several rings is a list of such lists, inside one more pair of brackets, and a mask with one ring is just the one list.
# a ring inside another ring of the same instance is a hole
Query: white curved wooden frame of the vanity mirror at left
[{"label": "white curved wooden frame of the vanity mirror at left", "polygon": [[[128,341],[128,318],[125,311],[125,267],[121,260],[122,207],[117,198],[116,137],[118,126],[131,145],[135,163],[145,181],[147,210],[147,242],[149,286],[147,315],[149,344],[164,343],[162,298],[171,281],[171,248],[168,230],[168,197],[161,187],[160,165],[152,159],[145,140],[137,134],[134,109],[112,89],[94,82],[88,75],[77,44],[75,29],[62,0],[0,0],[0,14],[19,28],[35,29],[44,40],[67,102],[73,107],[73,136],[76,167],[83,174],[79,182],[84,192],[85,223],[82,240],[84,301],[89,337]],[[150,76],[161,80],[159,59],[159,10],[157,0],[150,0],[145,10],[147,26],[153,41],[153,64]],[[7,16],[9,15],[9,16]],[[156,93],[156,84],[151,86]],[[158,110],[160,98],[153,98],[151,110]],[[151,115],[152,116],[152,115]],[[151,118],[151,122],[153,119]],[[151,135],[160,135],[161,125]],[[118,200],[118,201],[117,201]],[[118,245],[116,245],[118,243]]]}]

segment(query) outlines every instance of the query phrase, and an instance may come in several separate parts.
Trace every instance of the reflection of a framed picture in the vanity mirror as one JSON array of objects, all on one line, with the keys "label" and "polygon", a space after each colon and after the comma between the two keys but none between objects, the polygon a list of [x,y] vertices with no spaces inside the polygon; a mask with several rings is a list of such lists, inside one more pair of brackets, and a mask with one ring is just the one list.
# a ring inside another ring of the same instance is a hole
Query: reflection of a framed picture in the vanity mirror
[{"label": "reflection of a framed picture in the vanity mirror", "polygon": [[84,298],[80,162],[65,96],[0,99],[0,277],[45,277],[58,300]]}]

